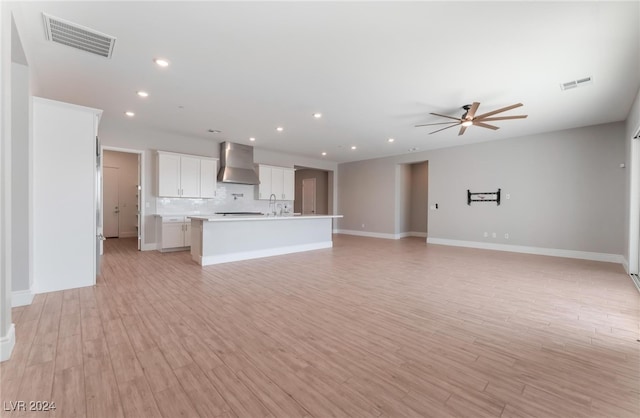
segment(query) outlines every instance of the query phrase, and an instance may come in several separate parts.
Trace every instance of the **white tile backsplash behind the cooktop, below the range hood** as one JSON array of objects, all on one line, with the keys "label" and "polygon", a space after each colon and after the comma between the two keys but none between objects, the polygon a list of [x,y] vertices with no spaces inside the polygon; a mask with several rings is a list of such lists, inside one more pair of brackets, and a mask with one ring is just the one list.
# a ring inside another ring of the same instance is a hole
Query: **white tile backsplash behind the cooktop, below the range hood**
[{"label": "white tile backsplash behind the cooktop, below the range hood", "polygon": [[[268,200],[255,198],[255,187],[247,184],[218,183],[213,199],[159,197],[158,215],[211,215],[215,212],[269,212]],[[283,211],[293,211],[293,201],[278,200]],[[286,207],[286,208],[285,208]]]}]

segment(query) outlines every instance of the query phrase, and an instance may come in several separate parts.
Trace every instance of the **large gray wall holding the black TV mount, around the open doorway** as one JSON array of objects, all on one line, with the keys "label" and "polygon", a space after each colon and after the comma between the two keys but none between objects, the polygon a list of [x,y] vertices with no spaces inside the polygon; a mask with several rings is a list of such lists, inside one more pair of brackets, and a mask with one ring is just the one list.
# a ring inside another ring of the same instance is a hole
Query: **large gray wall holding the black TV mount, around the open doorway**
[{"label": "large gray wall holding the black TV mount, around the open doorway", "polygon": [[[428,160],[429,204],[439,204],[429,237],[622,254],[624,129],[612,123],[340,164],[340,229],[365,223],[365,231],[396,233],[395,166]],[[467,189],[498,188],[511,195],[501,206],[467,205]]]}]

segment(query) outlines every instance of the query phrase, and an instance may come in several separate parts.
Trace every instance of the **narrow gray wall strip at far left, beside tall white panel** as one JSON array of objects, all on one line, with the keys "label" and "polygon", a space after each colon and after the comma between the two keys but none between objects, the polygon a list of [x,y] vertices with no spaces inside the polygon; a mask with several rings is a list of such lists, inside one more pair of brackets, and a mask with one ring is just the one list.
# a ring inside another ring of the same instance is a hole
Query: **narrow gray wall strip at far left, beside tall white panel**
[{"label": "narrow gray wall strip at far left, beside tall white panel", "polygon": [[[29,67],[11,65],[11,290],[30,289],[29,258]],[[19,231],[18,233],[16,233]]]}]

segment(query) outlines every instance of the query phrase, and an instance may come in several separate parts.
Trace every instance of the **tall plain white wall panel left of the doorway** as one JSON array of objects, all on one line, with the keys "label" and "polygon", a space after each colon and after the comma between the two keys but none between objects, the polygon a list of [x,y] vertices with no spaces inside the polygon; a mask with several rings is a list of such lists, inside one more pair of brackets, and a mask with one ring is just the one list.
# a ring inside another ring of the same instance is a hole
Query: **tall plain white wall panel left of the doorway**
[{"label": "tall plain white wall panel left of the doorway", "polygon": [[33,98],[34,292],[95,284],[96,117]]}]

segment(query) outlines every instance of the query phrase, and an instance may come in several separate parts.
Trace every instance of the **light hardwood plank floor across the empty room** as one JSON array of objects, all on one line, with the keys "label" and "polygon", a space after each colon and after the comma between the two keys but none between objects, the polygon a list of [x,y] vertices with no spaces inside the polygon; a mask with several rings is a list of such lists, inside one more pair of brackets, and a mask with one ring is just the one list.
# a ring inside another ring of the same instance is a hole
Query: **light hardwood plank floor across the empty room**
[{"label": "light hardwood plank floor across the empty room", "polygon": [[14,308],[3,409],[35,417],[638,417],[620,265],[336,236],[201,268],[106,242],[95,287]]}]

